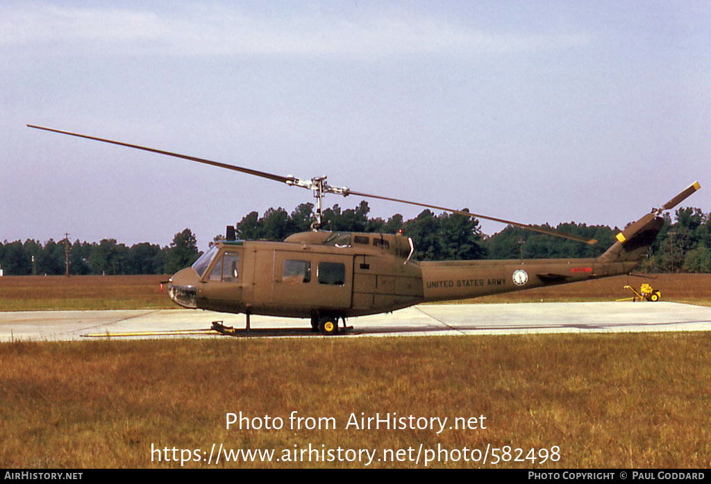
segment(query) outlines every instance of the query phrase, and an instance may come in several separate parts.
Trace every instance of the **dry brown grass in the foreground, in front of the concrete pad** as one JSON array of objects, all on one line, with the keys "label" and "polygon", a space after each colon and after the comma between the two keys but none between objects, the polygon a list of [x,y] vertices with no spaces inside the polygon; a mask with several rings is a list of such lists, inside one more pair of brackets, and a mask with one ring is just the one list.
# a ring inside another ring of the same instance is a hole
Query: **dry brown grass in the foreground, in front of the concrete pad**
[{"label": "dry brown grass in the foreground, in front of the concrete pad", "polygon": [[[0,467],[180,466],[151,462],[151,443],[208,453],[213,443],[292,450],[439,443],[559,446],[560,461],[544,468],[707,468],[710,344],[707,333],[4,343]],[[338,428],[290,430],[293,410],[333,416]],[[287,425],[225,430],[225,413],[240,411]],[[345,430],[351,412],[483,414],[488,429]],[[493,467],[507,466],[538,464]]]}]

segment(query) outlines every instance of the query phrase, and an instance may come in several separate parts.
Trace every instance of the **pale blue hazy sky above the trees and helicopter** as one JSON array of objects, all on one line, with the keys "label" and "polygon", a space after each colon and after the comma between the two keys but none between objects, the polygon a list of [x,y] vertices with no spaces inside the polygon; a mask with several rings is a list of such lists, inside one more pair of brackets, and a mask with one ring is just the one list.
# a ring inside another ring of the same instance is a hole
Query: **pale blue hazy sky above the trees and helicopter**
[{"label": "pale blue hazy sky above the trees and helicopter", "polygon": [[5,0],[0,240],[204,250],[314,202],[26,124],[525,223],[624,227],[694,181],[708,213],[710,46],[707,1]]}]

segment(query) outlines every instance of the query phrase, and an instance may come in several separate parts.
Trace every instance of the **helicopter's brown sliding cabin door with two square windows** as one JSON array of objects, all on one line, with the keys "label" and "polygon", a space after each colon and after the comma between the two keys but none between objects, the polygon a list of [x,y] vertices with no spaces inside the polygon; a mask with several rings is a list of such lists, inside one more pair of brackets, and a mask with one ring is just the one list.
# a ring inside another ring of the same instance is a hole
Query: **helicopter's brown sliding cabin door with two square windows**
[{"label": "helicopter's brown sliding cabin door with two square windows", "polygon": [[353,294],[353,256],[274,252],[272,303],[348,309]]}]

